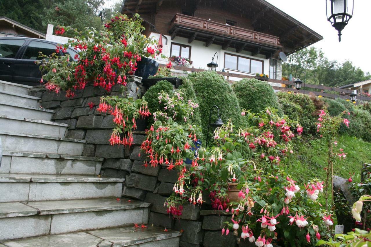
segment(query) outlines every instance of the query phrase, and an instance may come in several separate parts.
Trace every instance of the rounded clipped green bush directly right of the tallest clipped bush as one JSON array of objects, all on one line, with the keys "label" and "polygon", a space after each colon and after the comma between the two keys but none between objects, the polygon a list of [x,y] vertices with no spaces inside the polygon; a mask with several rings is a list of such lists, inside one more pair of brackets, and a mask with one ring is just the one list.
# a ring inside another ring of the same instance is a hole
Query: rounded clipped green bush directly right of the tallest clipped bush
[{"label": "rounded clipped green bush directly right of the tallest clipped bush", "polygon": [[272,106],[278,109],[279,115],[283,113],[272,86],[267,82],[254,78],[245,78],[236,82],[233,90],[242,109],[259,112],[267,106]]}]

